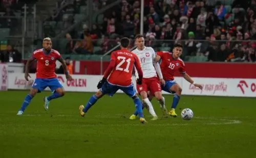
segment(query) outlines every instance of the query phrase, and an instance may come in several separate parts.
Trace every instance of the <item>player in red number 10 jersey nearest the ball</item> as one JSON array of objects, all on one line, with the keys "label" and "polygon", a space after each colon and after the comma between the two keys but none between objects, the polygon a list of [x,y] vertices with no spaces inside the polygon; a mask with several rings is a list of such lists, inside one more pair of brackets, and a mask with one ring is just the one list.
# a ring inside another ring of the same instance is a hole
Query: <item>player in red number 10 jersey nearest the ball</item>
[{"label": "player in red number 10 jersey nearest the ball", "polygon": [[160,60],[160,67],[163,74],[163,79],[165,80],[165,86],[162,87],[162,90],[168,93],[175,93],[173,98],[172,109],[168,112],[170,116],[177,117],[175,113],[175,108],[180,100],[181,96],[181,87],[174,81],[174,74],[176,71],[179,71],[183,74],[183,77],[187,82],[193,84],[196,87],[202,89],[203,87],[199,84],[196,84],[192,78],[185,71],[185,64],[179,58],[182,54],[182,45],[175,44],[173,48],[173,53],[168,51],[158,51],[157,60]]}]

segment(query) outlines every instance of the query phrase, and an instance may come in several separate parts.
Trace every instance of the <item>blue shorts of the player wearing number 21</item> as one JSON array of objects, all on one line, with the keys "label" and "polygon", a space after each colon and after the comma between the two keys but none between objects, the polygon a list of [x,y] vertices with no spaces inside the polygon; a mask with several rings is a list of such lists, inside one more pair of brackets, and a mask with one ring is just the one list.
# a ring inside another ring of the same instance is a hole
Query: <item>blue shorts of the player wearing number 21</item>
[{"label": "blue shorts of the player wearing number 21", "polygon": [[110,84],[109,82],[105,82],[100,88],[100,91],[103,94],[108,94],[109,96],[113,96],[119,89],[122,90],[125,94],[127,94],[130,97],[133,97],[136,94],[136,90],[133,84],[131,84],[128,87],[122,87],[122,86]]}]

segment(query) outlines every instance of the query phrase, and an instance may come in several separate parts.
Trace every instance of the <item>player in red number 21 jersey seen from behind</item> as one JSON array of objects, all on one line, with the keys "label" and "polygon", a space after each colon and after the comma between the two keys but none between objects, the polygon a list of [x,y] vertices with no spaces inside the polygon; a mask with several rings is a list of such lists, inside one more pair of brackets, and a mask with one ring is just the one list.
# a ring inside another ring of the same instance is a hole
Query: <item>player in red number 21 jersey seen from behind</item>
[{"label": "player in red number 21 jersey seen from behind", "polygon": [[112,52],[110,65],[106,69],[102,80],[97,85],[99,91],[91,96],[85,108],[82,105],[79,107],[80,116],[83,117],[103,95],[108,94],[113,96],[120,89],[133,98],[135,107],[139,112],[140,122],[146,123],[146,120],[143,117],[141,101],[136,95],[136,90],[132,83],[132,71],[134,66],[136,67],[139,76],[137,84],[141,85],[142,83],[143,72],[140,67],[140,62],[138,57],[128,50],[130,46],[129,38],[122,38],[120,43],[121,49]]}]

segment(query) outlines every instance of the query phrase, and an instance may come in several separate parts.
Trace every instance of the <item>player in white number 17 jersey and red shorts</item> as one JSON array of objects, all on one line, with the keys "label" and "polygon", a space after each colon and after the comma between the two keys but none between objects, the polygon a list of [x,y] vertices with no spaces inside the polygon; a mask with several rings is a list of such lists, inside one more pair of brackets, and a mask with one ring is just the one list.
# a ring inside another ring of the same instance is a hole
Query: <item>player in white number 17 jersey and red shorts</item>
[{"label": "player in white number 17 jersey and red shorts", "polygon": [[[167,114],[167,110],[165,108],[164,97],[162,96],[161,84],[164,86],[165,81],[163,80],[163,75],[158,62],[154,62],[156,57],[156,52],[152,47],[146,47],[143,35],[136,35],[135,44],[137,46],[133,52],[139,57],[140,65],[143,72],[142,85],[137,84],[137,91],[141,95],[143,104],[146,104],[148,107],[148,111],[153,116],[152,120],[157,120],[158,117],[154,111],[152,103],[147,98],[147,92],[150,91],[151,94],[155,95],[156,99],[161,104],[161,108],[164,114]],[[156,73],[157,72],[157,73]],[[160,78],[157,77],[157,74]],[[136,78],[137,78],[136,71]],[[161,82],[161,83],[160,83]],[[135,112],[130,119],[135,119],[138,112]]]}]

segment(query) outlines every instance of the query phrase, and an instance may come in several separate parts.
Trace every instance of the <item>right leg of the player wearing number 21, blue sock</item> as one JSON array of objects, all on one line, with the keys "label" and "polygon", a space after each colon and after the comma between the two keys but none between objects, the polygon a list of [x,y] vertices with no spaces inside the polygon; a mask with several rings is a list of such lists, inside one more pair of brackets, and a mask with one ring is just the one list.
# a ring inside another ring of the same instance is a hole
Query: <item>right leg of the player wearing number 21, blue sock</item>
[{"label": "right leg of the player wearing number 21, blue sock", "polygon": [[121,89],[125,94],[127,94],[128,96],[130,96],[133,99],[136,111],[138,111],[138,114],[140,117],[140,122],[146,123],[146,120],[144,119],[144,116],[143,116],[142,103],[140,101],[140,98],[136,95],[136,90],[135,90],[133,84],[129,87],[119,87],[119,89]]}]

